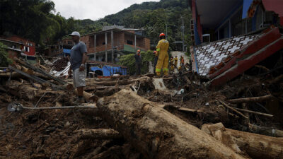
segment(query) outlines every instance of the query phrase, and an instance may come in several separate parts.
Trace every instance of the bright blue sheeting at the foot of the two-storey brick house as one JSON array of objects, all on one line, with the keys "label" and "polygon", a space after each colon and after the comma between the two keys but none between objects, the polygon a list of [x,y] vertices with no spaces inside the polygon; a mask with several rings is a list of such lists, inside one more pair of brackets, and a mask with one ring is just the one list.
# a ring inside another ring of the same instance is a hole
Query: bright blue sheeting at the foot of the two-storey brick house
[{"label": "bright blue sheeting at the foot of the two-storey brick house", "polygon": [[103,76],[112,76],[113,74],[121,73],[122,75],[127,75],[127,69],[119,66],[103,66],[99,68],[98,66],[92,66],[91,71],[100,70],[103,71]]}]

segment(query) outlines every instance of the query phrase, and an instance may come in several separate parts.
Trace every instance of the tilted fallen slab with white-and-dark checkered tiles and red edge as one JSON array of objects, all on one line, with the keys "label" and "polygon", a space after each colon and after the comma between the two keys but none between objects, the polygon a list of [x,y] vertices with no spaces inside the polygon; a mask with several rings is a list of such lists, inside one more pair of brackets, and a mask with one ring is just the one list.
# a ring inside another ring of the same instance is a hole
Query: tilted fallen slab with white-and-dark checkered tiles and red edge
[{"label": "tilted fallen slab with white-and-dark checkered tiles and red edge", "polygon": [[226,83],[283,49],[279,28],[271,27],[259,35],[231,37],[196,47],[200,75],[211,79],[212,86]]}]

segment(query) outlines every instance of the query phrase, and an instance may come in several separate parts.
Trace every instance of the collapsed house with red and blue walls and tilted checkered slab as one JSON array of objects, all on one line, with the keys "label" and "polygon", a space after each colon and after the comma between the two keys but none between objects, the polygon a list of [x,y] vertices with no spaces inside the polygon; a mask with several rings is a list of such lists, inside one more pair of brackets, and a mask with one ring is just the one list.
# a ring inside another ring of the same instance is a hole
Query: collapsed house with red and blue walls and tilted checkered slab
[{"label": "collapsed house with red and blue walls and tilted checkered slab", "polygon": [[[219,86],[281,54],[282,1],[190,1],[192,68]],[[221,8],[220,8],[221,7]]]}]

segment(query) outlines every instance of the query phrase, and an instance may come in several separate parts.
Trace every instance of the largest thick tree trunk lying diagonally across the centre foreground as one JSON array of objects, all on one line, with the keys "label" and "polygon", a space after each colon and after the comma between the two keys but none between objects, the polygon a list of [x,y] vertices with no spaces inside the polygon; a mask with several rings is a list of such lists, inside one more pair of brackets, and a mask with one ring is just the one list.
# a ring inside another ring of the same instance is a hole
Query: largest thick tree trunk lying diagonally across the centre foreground
[{"label": "largest thick tree trunk lying diagonally across the centre foreground", "polygon": [[245,158],[132,90],[100,98],[97,107],[146,158]]}]

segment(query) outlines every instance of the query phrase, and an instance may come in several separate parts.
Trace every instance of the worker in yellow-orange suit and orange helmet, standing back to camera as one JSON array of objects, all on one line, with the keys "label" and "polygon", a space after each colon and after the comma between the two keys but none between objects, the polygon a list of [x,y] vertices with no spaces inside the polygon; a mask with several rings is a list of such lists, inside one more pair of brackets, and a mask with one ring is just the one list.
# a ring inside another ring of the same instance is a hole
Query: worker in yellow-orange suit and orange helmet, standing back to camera
[{"label": "worker in yellow-orange suit and orange helmet, standing back to camera", "polygon": [[161,33],[159,35],[159,42],[156,46],[156,52],[158,55],[158,61],[156,64],[156,75],[161,76],[161,69],[163,70],[164,75],[168,75],[168,62],[169,62],[169,42],[165,40],[165,34]]}]

